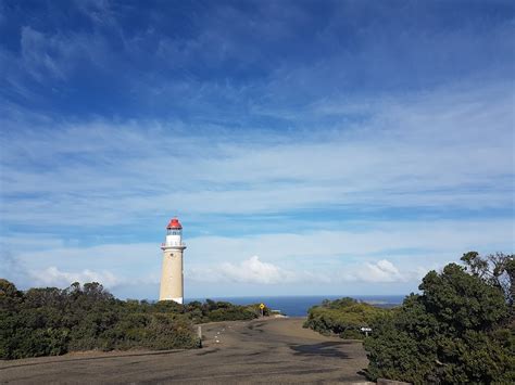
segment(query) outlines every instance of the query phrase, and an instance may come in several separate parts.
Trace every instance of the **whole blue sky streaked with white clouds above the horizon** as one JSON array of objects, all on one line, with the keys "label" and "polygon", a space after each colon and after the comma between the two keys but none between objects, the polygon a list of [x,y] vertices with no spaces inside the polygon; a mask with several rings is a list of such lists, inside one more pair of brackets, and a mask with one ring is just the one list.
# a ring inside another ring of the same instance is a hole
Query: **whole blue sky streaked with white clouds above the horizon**
[{"label": "whole blue sky streaked with white clouds above the horizon", "polygon": [[510,1],[0,0],[0,277],[405,294],[513,253]]}]

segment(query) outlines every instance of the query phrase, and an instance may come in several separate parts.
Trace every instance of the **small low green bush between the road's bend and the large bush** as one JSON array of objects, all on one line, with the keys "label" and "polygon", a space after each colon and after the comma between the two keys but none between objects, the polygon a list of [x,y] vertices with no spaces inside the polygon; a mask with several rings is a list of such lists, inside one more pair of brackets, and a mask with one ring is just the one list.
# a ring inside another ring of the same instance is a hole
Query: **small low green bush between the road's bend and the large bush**
[{"label": "small low green bush between the road's bend and the large bush", "polygon": [[313,306],[307,311],[304,328],[326,335],[338,334],[342,338],[361,339],[365,334],[360,329],[369,326],[387,311],[353,298],[325,299],[321,306]]}]

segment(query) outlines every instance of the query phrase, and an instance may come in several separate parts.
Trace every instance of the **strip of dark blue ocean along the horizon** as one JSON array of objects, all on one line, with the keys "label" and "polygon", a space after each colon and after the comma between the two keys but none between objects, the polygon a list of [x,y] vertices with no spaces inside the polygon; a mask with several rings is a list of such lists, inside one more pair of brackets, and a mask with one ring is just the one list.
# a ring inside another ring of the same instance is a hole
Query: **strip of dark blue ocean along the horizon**
[{"label": "strip of dark blue ocean along the horizon", "polygon": [[[213,300],[224,300],[236,305],[265,304],[273,310],[290,317],[304,317],[307,309],[319,305],[324,299],[342,298],[341,295],[317,295],[317,296],[280,296],[280,297],[209,297]],[[354,299],[368,303],[379,307],[393,307],[402,304],[404,295],[357,295],[350,296]],[[206,298],[185,298],[185,303],[192,300],[204,301]]]}]

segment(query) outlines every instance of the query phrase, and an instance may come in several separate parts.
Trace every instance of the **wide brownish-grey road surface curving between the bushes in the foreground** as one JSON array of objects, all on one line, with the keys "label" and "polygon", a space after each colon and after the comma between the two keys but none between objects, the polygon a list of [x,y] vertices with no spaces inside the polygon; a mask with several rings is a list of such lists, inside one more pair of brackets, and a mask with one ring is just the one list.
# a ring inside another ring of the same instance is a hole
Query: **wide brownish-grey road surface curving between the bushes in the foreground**
[{"label": "wide brownish-grey road surface curving between the bushes in the foreground", "polygon": [[302,319],[202,326],[194,350],[88,352],[0,361],[1,383],[363,383],[360,343],[302,329]]}]

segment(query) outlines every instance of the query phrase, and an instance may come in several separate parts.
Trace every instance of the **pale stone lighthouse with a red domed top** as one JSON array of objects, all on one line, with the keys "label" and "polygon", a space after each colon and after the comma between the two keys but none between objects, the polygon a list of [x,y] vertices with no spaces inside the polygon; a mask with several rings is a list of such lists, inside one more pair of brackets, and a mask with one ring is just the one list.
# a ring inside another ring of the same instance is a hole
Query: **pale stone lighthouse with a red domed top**
[{"label": "pale stone lighthouse with a red domed top", "polygon": [[159,300],[174,300],[183,304],[183,226],[177,218],[173,218],[166,226],[166,240],[161,245],[163,251],[163,269],[161,272],[161,288]]}]

